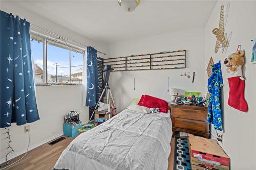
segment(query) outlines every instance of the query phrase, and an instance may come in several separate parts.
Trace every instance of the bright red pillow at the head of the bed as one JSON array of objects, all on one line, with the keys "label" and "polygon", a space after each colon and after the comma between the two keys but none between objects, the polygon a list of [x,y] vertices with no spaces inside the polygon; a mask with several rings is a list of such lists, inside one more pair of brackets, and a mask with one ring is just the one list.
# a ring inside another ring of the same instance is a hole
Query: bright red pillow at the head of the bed
[{"label": "bright red pillow at the head of the bed", "polygon": [[[142,99],[143,98],[143,99]],[[140,106],[145,106],[147,108],[159,108],[159,112],[168,112],[168,103],[162,99],[155,98],[150,95],[142,95],[138,103]]]}]

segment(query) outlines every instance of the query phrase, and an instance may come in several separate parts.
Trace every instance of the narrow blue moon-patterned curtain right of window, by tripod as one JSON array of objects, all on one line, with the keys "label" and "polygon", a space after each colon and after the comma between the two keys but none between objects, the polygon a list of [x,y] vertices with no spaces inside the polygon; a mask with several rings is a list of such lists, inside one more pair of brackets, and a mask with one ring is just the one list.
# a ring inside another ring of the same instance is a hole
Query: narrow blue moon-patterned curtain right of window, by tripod
[{"label": "narrow blue moon-patterned curtain right of window, by tripod", "polygon": [[87,47],[87,95],[86,106],[96,106],[99,94],[97,50]]}]

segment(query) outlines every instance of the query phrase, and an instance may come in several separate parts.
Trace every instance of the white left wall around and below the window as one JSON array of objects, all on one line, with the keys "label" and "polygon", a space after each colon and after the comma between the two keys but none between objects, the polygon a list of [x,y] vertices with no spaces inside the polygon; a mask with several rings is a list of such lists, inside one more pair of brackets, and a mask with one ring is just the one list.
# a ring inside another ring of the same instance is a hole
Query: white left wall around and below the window
[{"label": "white left wall around and below the window", "polygon": [[[90,45],[97,50],[105,52],[105,44],[90,40],[81,36],[67,28],[64,28],[56,23],[36,14],[27,9],[24,9],[15,3],[1,1],[1,10],[18,15],[21,18],[26,18],[33,25],[50,30],[72,40],[78,41],[84,45]],[[31,28],[33,29],[33,28]],[[38,30],[35,30],[38,31]],[[41,32],[46,34],[45,32]],[[101,55],[99,55],[102,57]],[[65,114],[71,110],[81,112],[80,118],[82,122],[87,122],[89,119],[88,107],[81,106],[81,85],[70,86],[36,86],[37,106],[40,120],[29,124],[31,131],[31,147],[36,147],[37,144],[52,139],[62,134],[62,123]],[[11,134],[11,145],[14,149],[12,156],[21,154],[27,148],[28,134],[24,132],[24,126],[16,126],[12,124],[9,128]],[[5,129],[1,129],[1,162],[5,158],[8,147],[7,135],[4,134]],[[8,158],[12,158],[12,156]]]}]

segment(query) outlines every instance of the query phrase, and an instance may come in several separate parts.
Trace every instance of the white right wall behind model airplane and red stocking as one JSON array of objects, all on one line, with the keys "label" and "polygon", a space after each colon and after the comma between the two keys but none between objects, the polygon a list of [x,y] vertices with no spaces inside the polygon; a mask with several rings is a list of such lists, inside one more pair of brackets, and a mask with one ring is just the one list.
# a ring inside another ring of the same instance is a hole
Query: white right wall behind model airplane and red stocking
[{"label": "white right wall behind model airplane and red stocking", "polygon": [[[256,169],[256,65],[250,64],[251,40],[256,38],[256,2],[255,1],[230,1],[230,8],[227,18],[225,32],[232,32],[230,46],[226,54],[221,50],[215,54],[214,48],[216,38],[212,34],[212,29],[219,26],[220,8],[223,4],[226,10],[229,1],[220,1],[209,17],[205,27],[205,66],[212,56],[215,62],[221,61],[223,87],[223,116],[224,131],[222,147],[230,156],[231,169]],[[249,106],[247,113],[233,109],[227,105],[228,101],[228,81],[227,72],[223,64],[224,59],[237,50],[238,45],[245,50],[246,63],[244,65],[245,99]]]}]

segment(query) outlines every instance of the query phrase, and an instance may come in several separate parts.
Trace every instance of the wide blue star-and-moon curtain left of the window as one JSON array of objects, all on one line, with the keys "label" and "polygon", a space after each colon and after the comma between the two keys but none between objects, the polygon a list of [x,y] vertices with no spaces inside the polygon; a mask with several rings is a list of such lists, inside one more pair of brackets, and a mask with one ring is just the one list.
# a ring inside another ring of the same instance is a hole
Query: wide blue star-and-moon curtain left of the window
[{"label": "wide blue star-and-moon curtain left of the window", "polygon": [[29,27],[26,19],[1,11],[1,128],[39,119]]}]

